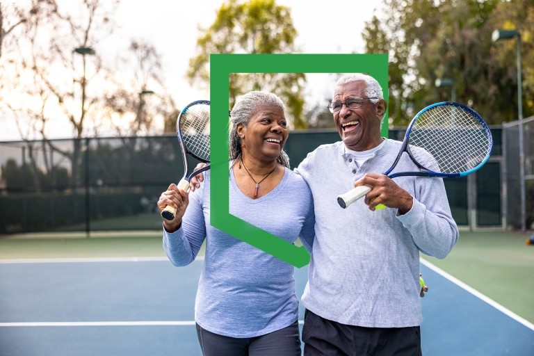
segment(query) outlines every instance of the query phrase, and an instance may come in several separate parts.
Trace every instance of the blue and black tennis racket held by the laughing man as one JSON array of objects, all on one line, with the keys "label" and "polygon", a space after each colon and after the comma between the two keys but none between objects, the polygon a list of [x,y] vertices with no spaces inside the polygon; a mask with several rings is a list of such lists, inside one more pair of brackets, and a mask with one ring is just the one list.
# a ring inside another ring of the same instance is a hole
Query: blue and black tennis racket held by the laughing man
[{"label": "blue and black tennis racket held by the laughing man", "polygon": [[[432,104],[412,119],[397,158],[384,174],[464,177],[486,163],[492,147],[489,127],[472,108],[455,102]],[[421,171],[391,173],[405,153]],[[339,195],[337,202],[345,209],[370,191],[369,186],[357,186]]]}]

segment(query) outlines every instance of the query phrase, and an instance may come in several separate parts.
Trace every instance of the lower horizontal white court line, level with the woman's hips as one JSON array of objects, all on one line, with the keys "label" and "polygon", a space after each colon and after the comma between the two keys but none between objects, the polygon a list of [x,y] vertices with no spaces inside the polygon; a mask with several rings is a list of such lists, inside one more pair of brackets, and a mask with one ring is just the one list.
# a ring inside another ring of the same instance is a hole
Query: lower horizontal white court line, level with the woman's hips
[{"label": "lower horizontal white court line, level with the woman's hips", "polygon": [[[304,324],[303,320],[298,321]],[[191,326],[195,321],[33,321],[26,323],[0,323],[0,327],[31,327],[31,326]]]}]

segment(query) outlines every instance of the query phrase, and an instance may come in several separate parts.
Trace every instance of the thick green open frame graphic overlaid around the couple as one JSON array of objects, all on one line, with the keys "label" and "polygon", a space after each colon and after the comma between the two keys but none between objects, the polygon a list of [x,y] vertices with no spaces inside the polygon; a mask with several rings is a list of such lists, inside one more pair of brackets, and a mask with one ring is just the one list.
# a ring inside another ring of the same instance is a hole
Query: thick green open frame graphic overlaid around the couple
[{"label": "thick green open frame graphic overlaid around the couple", "polygon": [[[231,73],[359,73],[373,76],[388,97],[387,54],[211,54],[211,226],[298,268],[309,263],[303,246],[259,229],[229,213],[228,103]],[[218,120],[217,118],[220,118]],[[387,112],[382,126],[387,137]]]}]

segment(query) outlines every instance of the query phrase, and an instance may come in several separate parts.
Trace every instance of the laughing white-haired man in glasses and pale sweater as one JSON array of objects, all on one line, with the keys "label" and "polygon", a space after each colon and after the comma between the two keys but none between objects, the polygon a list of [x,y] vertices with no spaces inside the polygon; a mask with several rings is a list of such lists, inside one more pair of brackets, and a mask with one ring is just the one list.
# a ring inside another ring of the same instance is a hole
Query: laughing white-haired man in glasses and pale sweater
[{"label": "laughing white-haired man in glasses and pale sweater", "polygon": [[[380,136],[387,103],[372,76],[342,76],[329,108],[341,141],[296,168],[316,217],[302,296],[305,355],[421,355],[419,252],[444,258],[458,240],[443,181],[380,174],[401,142]],[[419,168],[404,157],[396,170]],[[360,185],[371,192],[341,209],[337,195]]]}]

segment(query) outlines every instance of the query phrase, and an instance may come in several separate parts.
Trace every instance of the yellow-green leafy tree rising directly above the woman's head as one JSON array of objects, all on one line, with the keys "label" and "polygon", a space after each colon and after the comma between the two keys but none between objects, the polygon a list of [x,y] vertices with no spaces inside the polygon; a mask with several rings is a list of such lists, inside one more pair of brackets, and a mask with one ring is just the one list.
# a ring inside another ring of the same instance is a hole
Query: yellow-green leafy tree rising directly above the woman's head
[{"label": "yellow-green leafy tree rising directly above the woman's head", "polygon": [[[293,42],[297,31],[291,13],[275,0],[229,0],[221,6],[209,29],[200,30],[199,53],[191,58],[187,73],[191,84],[209,84],[209,54],[275,54],[297,51]],[[239,95],[250,90],[268,90],[284,100],[296,129],[305,128],[303,118],[305,84],[303,73],[232,74],[229,83],[229,106]]]}]

